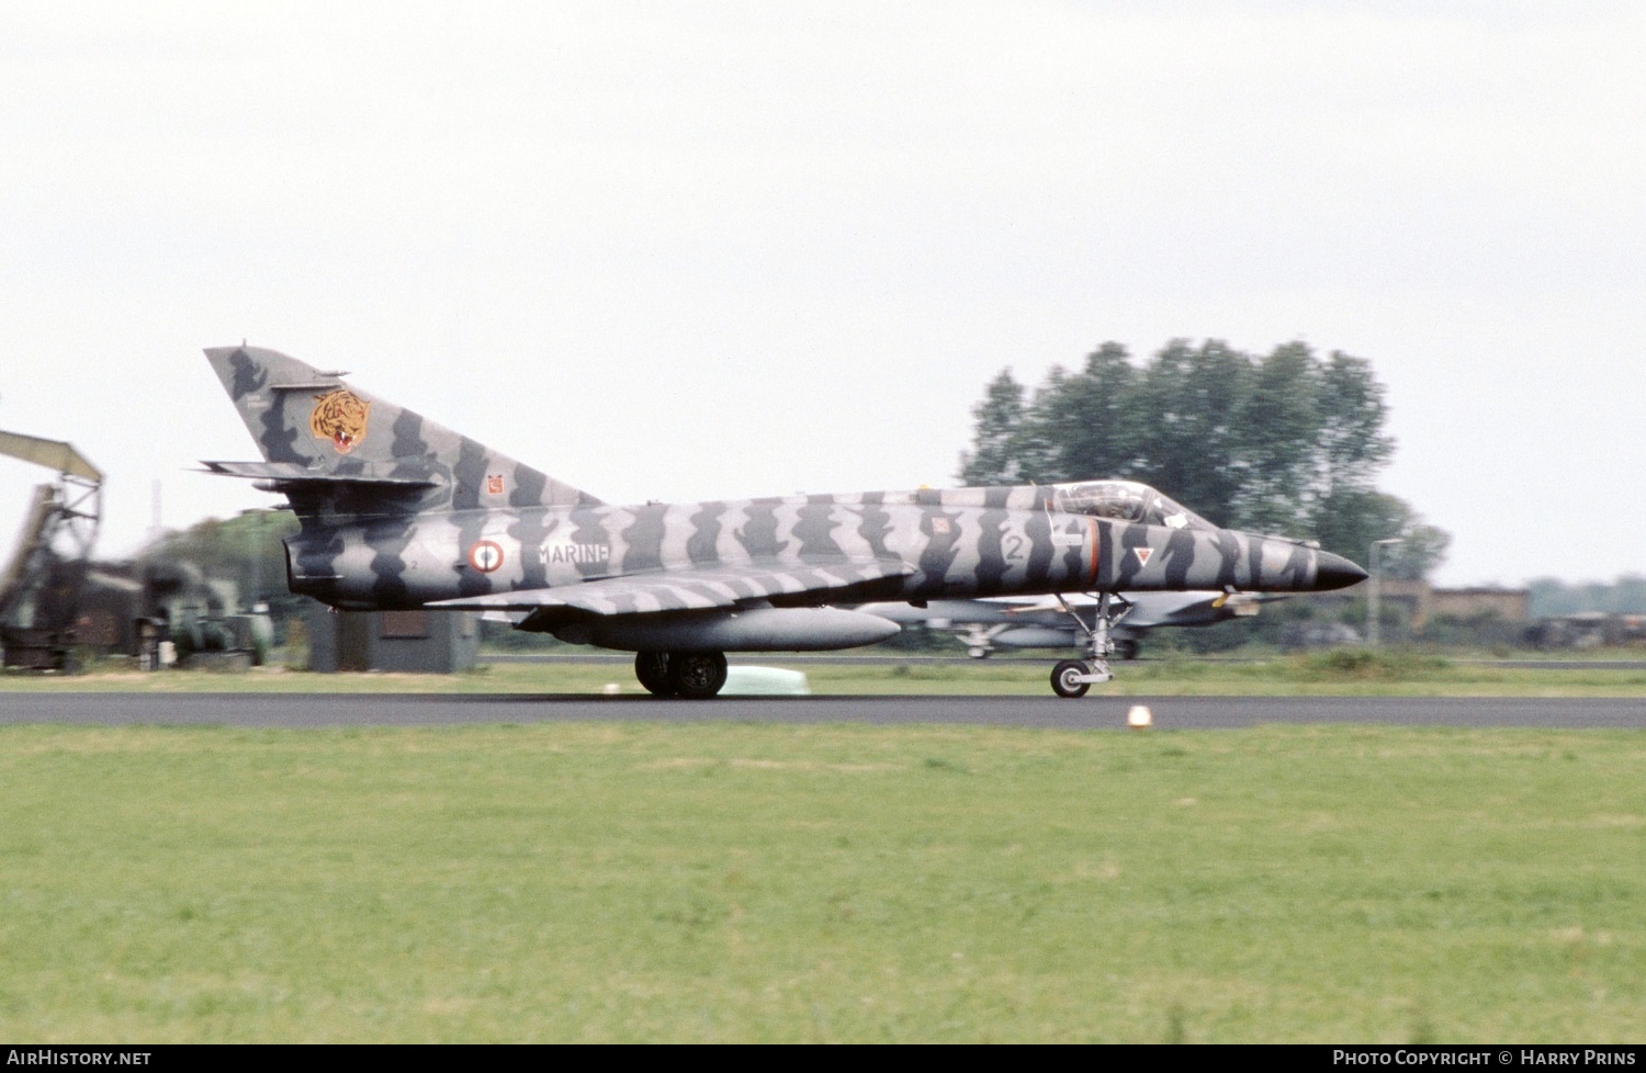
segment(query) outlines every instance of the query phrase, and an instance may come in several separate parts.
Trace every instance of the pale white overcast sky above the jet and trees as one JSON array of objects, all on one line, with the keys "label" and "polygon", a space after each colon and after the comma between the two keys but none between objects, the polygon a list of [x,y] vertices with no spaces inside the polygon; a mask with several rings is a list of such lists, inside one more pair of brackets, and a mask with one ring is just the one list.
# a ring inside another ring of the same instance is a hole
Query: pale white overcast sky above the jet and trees
[{"label": "pale white overcast sky above the jet and trees", "polygon": [[273,502],[188,472],[255,458],[240,339],[609,502],[953,484],[1006,365],[1305,339],[1439,581],[1639,573],[1643,54],[1634,3],[8,0],[0,428],[117,555],[156,479]]}]

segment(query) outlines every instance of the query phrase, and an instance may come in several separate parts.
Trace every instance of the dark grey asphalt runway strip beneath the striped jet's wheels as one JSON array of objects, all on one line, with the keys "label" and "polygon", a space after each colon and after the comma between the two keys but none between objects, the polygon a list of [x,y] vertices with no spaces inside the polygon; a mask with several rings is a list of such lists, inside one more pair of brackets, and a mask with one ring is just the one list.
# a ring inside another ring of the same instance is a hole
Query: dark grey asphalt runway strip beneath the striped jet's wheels
[{"label": "dark grey asphalt runway strip beneath the striped jet's wheels", "polygon": [[435,693],[3,693],[0,724],[69,726],[461,726],[481,722],[869,722],[1124,729],[1132,704],[1159,729],[1236,729],[1266,722],[1646,729],[1641,698],[1358,696],[830,696],[660,701]]}]

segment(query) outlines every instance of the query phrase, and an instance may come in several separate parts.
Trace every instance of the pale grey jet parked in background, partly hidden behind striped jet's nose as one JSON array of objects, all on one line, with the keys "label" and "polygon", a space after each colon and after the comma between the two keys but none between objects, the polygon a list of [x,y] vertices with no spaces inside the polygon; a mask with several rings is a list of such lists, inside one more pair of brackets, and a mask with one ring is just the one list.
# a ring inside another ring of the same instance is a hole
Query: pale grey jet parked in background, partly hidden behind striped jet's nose
[{"label": "pale grey jet parked in background, partly hidden behind striped jet's nose", "polygon": [[[1142,485],[1136,485],[1142,487]],[[1261,601],[1284,599],[1279,594],[1258,592],[1116,592],[1119,607],[1111,625],[1109,640],[1114,655],[1123,660],[1137,657],[1137,647],[1147,630],[1165,625],[1213,625],[1230,619],[1258,614]],[[1096,601],[1090,596],[1072,596],[1070,611],[1083,612],[1085,627],[1095,625],[1091,611]],[[925,607],[905,602],[864,604],[858,611],[890,619],[899,625],[928,625],[953,630],[966,645],[966,655],[986,660],[994,648],[1072,648],[1083,643],[1083,634],[1055,597],[986,596],[983,599],[930,601]]]}]

